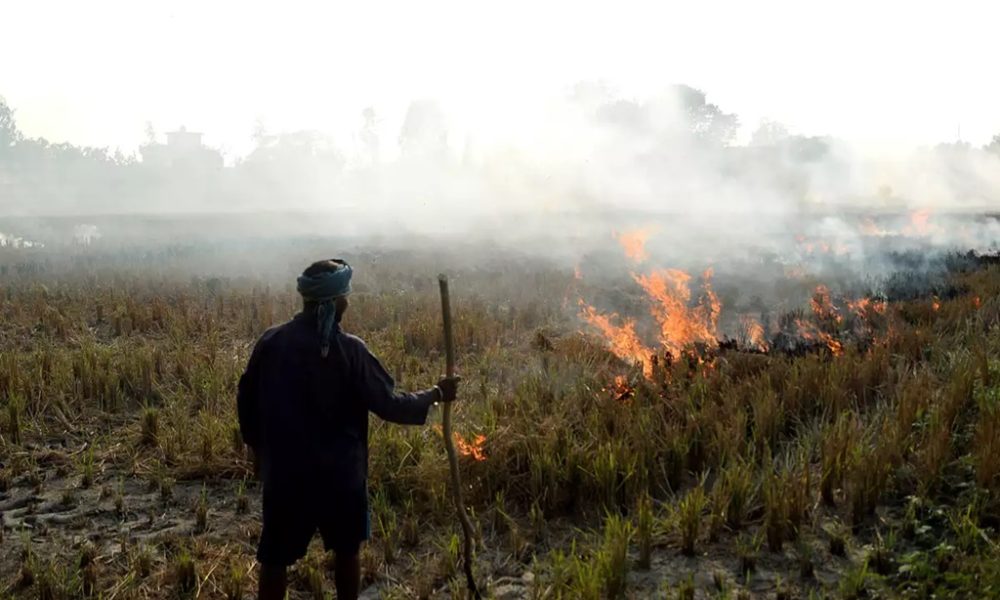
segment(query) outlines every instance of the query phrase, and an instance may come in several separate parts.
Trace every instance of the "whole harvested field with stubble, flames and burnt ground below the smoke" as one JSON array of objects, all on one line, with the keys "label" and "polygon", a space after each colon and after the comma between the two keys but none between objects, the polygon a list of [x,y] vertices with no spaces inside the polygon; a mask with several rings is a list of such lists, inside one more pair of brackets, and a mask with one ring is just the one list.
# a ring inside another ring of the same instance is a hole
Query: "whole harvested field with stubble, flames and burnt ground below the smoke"
[{"label": "whole harvested field with stubble, flames and burnt ground below the smoke", "polygon": [[[235,385],[330,246],[0,248],[0,597],[253,594]],[[443,372],[435,276],[452,278],[489,597],[1000,597],[990,257],[874,295],[784,269],[764,315],[722,270],[681,285],[629,257],[345,254],[345,328],[403,388]],[[657,316],[669,302],[684,323]],[[373,420],[366,597],[464,597],[439,418]],[[314,545],[292,597],[332,595],[328,571]]]}]

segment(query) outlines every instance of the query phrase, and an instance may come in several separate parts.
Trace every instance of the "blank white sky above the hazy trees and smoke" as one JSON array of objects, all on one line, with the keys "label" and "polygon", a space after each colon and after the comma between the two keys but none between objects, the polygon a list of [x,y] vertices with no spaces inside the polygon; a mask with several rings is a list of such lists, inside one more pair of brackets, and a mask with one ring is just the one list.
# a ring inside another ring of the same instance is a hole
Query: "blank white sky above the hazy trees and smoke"
[{"label": "blank white sky above the hazy trees and smoke", "polygon": [[147,121],[239,154],[257,119],[347,135],[366,106],[395,127],[427,97],[489,138],[595,79],[635,97],[692,85],[744,137],[762,117],[878,146],[1000,133],[985,0],[3,4],[0,95],[22,130],[126,151]]}]

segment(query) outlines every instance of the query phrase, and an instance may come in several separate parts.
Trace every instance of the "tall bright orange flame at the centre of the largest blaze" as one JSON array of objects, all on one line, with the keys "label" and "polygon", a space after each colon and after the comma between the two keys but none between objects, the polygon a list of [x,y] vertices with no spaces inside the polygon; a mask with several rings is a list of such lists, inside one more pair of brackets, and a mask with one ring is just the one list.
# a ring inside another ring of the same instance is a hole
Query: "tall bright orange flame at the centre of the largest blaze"
[{"label": "tall bright orange flame at the centre of the largest blaze", "polygon": [[669,352],[679,355],[695,342],[716,343],[722,305],[712,291],[711,269],[702,276],[703,295],[693,307],[689,306],[691,276],[684,271],[664,269],[632,277],[649,295],[650,312],[660,325],[660,343]]}]

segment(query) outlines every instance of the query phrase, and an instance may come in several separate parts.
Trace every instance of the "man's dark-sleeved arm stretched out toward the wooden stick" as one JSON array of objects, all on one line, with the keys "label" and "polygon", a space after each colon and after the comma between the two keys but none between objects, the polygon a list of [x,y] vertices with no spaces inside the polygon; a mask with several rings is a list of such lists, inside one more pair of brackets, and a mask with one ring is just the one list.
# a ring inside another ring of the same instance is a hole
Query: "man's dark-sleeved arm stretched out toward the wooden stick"
[{"label": "man's dark-sleeved arm stretched out toward the wooden stick", "polygon": [[397,393],[396,382],[382,363],[359,342],[355,364],[358,392],[368,404],[368,410],[380,418],[401,425],[423,425],[427,412],[438,401],[444,400],[440,388],[411,393]]}]

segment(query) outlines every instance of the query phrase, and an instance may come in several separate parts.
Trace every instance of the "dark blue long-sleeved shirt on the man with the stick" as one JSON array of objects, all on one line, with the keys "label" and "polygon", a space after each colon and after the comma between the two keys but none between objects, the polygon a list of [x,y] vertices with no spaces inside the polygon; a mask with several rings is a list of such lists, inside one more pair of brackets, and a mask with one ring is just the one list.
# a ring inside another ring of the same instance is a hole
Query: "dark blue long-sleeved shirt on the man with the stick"
[{"label": "dark blue long-sleeved shirt on the man with the stick", "polygon": [[421,425],[437,399],[433,388],[396,393],[365,343],[339,326],[323,358],[315,316],[299,314],[257,342],[237,404],[240,432],[260,460],[266,488],[364,494],[368,411]]}]

